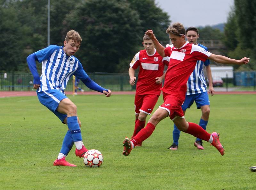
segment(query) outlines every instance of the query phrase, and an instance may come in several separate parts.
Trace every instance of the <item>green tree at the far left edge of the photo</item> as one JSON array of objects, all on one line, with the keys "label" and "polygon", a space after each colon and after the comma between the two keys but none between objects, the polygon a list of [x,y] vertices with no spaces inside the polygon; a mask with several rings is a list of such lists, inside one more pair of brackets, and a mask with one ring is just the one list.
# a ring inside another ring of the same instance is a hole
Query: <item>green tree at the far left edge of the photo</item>
[{"label": "green tree at the far left edge of the photo", "polygon": [[24,66],[24,48],[28,28],[19,20],[19,14],[12,2],[5,2],[0,7],[0,70],[15,71]]}]

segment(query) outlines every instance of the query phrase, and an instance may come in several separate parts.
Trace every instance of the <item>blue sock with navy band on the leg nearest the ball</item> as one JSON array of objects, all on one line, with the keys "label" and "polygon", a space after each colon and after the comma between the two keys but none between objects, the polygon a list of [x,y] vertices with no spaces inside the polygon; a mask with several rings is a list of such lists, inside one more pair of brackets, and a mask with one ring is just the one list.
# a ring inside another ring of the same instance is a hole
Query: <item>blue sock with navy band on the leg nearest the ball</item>
[{"label": "blue sock with navy band on the leg nearest the ball", "polygon": [[73,137],[73,141],[82,141],[82,135],[79,124],[77,122],[77,116],[67,117],[67,124]]}]

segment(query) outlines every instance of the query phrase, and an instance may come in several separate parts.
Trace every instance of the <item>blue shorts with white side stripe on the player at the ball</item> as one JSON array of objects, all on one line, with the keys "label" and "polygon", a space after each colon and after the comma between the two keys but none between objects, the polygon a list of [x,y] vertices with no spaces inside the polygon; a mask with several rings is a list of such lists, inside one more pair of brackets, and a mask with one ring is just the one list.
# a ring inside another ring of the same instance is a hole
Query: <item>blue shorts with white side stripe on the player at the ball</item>
[{"label": "blue shorts with white side stripe on the player at the ball", "polygon": [[64,121],[67,115],[57,112],[56,109],[58,108],[62,99],[68,98],[65,94],[63,94],[59,90],[52,89],[48,91],[37,92],[37,97],[40,103],[47,107],[49,110],[51,110],[52,113],[57,115],[61,122]]}]

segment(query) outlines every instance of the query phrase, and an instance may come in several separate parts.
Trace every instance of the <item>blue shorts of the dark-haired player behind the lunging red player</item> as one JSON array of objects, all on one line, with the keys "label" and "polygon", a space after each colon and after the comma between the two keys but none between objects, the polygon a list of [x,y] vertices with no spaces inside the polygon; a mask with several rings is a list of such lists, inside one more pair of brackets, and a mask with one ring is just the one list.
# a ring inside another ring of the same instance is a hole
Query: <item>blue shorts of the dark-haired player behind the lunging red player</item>
[{"label": "blue shorts of the dark-haired player behind the lunging red player", "polygon": [[201,106],[210,105],[207,92],[202,92],[199,94],[186,95],[185,101],[181,106],[182,110],[185,111],[190,108],[194,101],[196,102],[197,109],[200,109]]}]

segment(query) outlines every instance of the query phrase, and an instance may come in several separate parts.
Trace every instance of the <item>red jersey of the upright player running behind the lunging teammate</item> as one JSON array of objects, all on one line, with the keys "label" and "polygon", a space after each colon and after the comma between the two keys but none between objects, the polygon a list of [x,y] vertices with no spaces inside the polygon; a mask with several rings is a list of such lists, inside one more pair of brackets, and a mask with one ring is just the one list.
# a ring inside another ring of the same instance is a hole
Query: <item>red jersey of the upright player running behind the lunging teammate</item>
[{"label": "red jersey of the upright player running behind the lunging teammate", "polygon": [[164,73],[164,64],[168,66],[170,58],[162,57],[156,52],[148,55],[146,49],[140,50],[132,59],[130,66],[135,70],[140,66],[136,94],[155,94],[160,96],[162,84],[156,84],[156,77]]}]

